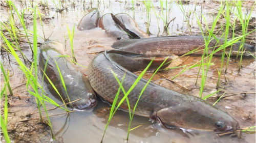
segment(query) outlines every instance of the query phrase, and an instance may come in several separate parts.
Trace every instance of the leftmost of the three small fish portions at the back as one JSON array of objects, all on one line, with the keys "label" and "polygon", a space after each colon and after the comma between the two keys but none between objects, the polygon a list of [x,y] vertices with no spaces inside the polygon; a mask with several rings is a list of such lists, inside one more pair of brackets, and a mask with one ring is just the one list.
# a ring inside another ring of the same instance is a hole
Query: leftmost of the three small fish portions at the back
[{"label": "leftmost of the three small fish portions at the back", "polygon": [[82,17],[77,25],[78,30],[90,30],[98,26],[100,14],[97,9],[92,9],[88,14]]}]

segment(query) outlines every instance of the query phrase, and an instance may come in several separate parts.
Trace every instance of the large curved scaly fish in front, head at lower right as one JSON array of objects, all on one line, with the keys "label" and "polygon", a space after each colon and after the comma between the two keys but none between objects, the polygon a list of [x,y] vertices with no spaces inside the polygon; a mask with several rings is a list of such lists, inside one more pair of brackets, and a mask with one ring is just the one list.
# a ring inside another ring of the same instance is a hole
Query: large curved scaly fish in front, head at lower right
[{"label": "large curved scaly fish in front, head at lower right", "polygon": [[[117,56],[113,54],[118,53],[116,51],[113,53],[110,50],[98,54],[88,67],[88,77],[92,88],[110,103],[113,102],[119,88],[119,84],[112,71],[120,81],[125,74],[122,84],[125,91],[129,90],[138,77],[129,71],[129,67],[123,68],[123,64],[125,65],[127,61],[116,60]],[[128,98],[131,108],[134,107],[146,83],[147,80],[141,79],[129,94]],[[121,92],[118,100],[120,101],[122,97],[123,93]],[[121,108],[128,110],[125,100]],[[236,120],[204,100],[165,89],[152,82],[147,85],[135,113],[140,116],[158,119],[164,125],[174,125],[188,129],[230,131],[233,128],[239,128]],[[222,124],[223,127],[219,127],[219,124]]]}]

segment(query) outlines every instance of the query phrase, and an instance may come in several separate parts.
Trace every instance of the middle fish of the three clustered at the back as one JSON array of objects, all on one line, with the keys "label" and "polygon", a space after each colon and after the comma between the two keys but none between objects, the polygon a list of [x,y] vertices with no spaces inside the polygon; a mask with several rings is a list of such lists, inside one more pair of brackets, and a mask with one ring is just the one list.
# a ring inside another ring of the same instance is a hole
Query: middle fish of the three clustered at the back
[{"label": "middle fish of the three clustered at the back", "polygon": [[129,39],[127,33],[118,27],[110,13],[104,14],[99,18],[98,26],[101,27],[102,30],[105,30],[108,35],[115,37],[117,40]]}]

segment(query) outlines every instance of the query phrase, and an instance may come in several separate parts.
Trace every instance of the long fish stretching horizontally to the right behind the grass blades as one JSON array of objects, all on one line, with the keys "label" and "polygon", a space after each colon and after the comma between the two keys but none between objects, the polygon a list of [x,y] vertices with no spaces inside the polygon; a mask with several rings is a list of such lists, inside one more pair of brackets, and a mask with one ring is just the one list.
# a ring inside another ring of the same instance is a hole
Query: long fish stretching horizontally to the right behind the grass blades
[{"label": "long fish stretching horizontally to the right behind the grass blades", "polygon": [[[219,44],[216,39],[211,39],[208,45],[208,53],[217,49],[224,43],[224,39],[219,38]],[[231,56],[237,55],[241,42],[234,43],[232,45]],[[173,53],[175,55],[187,54],[190,51],[191,54],[202,54],[205,47],[205,41],[203,36],[165,36],[165,37],[153,37],[142,39],[127,39],[120,40],[112,45],[113,48],[118,50],[132,51],[136,53],[143,53],[150,56],[168,55]],[[228,54],[231,46],[226,47],[226,53]],[[250,55],[249,52],[255,52],[255,47],[244,44],[243,55]],[[216,52],[215,55],[221,55],[221,50]]]}]

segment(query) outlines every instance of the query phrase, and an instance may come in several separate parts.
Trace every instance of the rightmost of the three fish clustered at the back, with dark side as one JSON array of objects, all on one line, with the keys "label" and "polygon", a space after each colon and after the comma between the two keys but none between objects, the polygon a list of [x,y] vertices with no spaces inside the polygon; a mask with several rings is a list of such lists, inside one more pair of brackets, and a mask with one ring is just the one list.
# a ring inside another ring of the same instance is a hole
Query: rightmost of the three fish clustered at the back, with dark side
[{"label": "rightmost of the three fish clustered at the back, with dark side", "polygon": [[113,15],[113,20],[122,28],[126,33],[129,33],[131,38],[148,38],[148,34],[141,31],[138,24],[134,19],[126,13],[118,13]]}]

